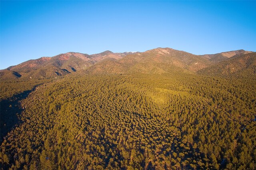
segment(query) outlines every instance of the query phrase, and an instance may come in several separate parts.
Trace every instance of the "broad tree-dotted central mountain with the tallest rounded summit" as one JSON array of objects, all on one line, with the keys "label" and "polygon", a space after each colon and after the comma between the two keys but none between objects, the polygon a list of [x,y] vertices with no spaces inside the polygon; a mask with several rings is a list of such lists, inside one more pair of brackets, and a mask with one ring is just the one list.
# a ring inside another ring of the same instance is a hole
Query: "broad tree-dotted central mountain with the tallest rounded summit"
[{"label": "broad tree-dotted central mountain with the tallest rounded summit", "polygon": [[209,61],[185,51],[156,48],[126,55],[118,61],[102,61],[88,68],[88,73],[170,73],[194,72],[205,68]]}]

